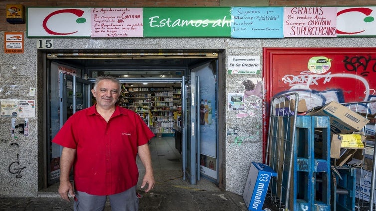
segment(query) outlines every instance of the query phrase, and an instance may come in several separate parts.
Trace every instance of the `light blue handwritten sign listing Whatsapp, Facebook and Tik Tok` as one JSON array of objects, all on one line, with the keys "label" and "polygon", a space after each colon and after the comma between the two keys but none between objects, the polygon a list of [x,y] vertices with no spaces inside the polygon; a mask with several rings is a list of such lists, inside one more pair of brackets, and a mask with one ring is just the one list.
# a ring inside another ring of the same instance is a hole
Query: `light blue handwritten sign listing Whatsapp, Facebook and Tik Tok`
[{"label": "light blue handwritten sign listing Whatsapp, Facebook and Tik Tok", "polygon": [[283,38],[283,7],[233,7],[234,38]]}]

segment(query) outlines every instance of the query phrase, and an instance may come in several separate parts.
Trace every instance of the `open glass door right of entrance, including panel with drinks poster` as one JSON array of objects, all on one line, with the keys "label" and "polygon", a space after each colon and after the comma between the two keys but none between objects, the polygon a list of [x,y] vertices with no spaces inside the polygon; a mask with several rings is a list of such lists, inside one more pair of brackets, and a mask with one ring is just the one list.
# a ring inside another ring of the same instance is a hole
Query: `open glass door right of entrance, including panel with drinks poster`
[{"label": "open glass door right of entrance, including panel with drinks poster", "polygon": [[195,185],[201,176],[219,184],[217,84],[214,63],[191,69],[182,85],[182,157],[185,176]]}]

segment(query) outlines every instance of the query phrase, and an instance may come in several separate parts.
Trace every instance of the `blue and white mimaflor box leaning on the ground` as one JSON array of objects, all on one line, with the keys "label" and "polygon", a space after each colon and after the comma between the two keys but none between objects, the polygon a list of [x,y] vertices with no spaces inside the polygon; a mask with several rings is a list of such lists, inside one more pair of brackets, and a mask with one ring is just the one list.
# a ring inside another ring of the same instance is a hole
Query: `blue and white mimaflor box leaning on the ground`
[{"label": "blue and white mimaflor box leaning on the ground", "polygon": [[243,192],[243,199],[248,210],[262,211],[269,182],[273,176],[277,176],[277,173],[268,165],[251,163]]}]

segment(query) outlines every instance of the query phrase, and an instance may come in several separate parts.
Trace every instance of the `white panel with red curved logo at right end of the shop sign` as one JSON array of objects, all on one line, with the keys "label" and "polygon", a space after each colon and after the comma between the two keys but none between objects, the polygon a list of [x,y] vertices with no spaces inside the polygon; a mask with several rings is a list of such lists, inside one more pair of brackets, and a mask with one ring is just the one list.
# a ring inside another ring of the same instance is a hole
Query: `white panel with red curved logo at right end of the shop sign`
[{"label": "white panel with red curved logo at right end of the shop sign", "polygon": [[376,7],[338,7],[337,36],[375,36]]}]

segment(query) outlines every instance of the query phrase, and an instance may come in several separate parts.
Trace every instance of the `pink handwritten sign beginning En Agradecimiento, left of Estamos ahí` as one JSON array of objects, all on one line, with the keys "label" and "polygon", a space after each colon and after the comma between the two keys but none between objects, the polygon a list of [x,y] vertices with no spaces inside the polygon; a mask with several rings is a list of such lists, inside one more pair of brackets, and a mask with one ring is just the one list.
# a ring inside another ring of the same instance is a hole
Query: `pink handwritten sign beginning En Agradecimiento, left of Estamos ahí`
[{"label": "pink handwritten sign beginning En Agradecimiento, left of Estamos ah\u00ed", "polygon": [[142,37],[142,8],[93,8],[91,37]]}]

